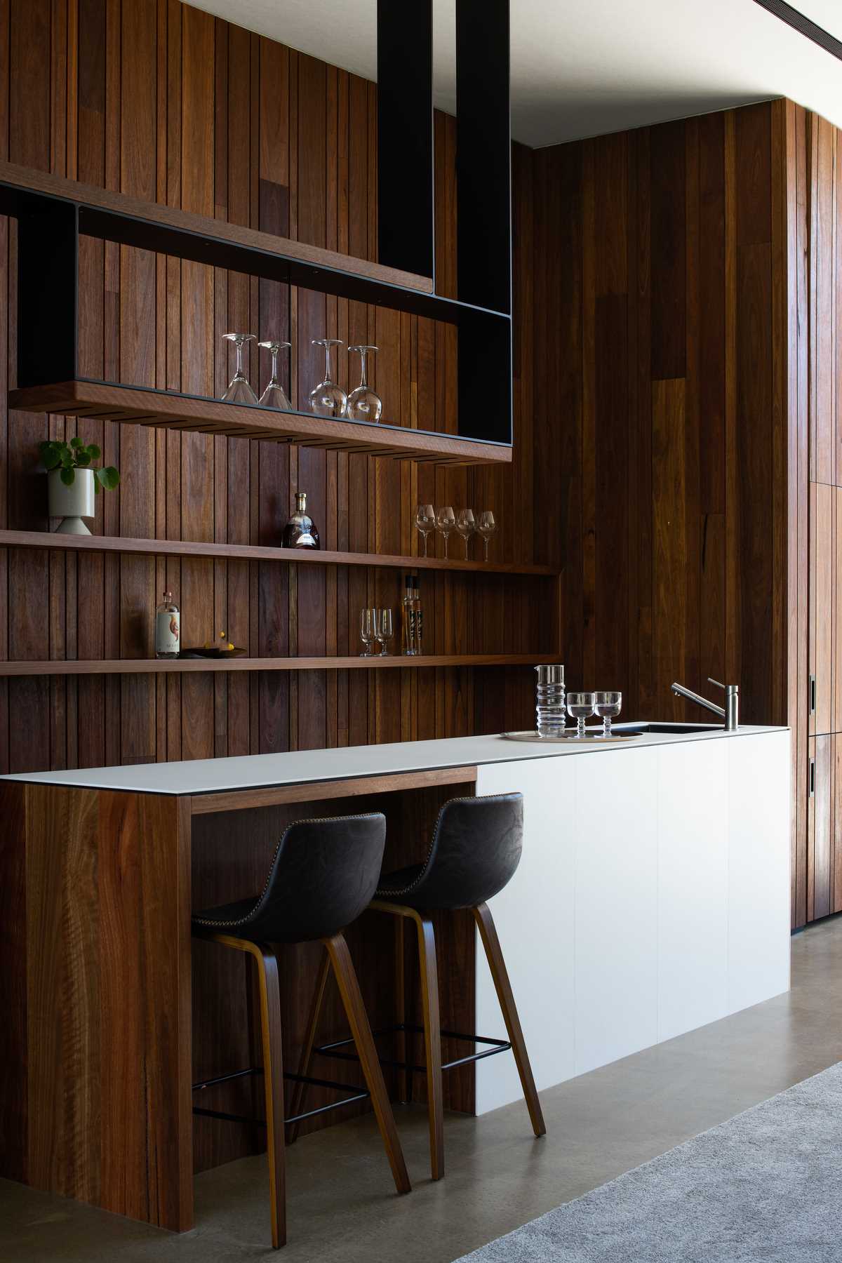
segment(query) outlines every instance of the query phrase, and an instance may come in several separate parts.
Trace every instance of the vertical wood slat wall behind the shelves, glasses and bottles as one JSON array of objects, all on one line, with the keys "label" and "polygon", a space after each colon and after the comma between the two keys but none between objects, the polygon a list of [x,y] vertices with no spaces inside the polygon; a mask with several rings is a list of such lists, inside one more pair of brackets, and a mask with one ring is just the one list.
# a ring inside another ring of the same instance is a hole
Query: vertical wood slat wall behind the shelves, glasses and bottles
[{"label": "vertical wood slat wall behind the shelves, glasses and bottles", "polygon": [[[213,215],[360,258],[376,251],[375,87],[177,0],[0,0],[0,155],[149,201]],[[6,33],[9,39],[6,39]],[[454,125],[436,119],[437,287],[456,284]],[[529,155],[516,206],[530,249]],[[412,187],[409,179],[408,187]],[[71,418],[6,416],[14,386],[15,225],[0,220],[0,525],[45,529],[37,443],[69,437]],[[249,330],[293,342],[289,386],[321,379],[312,337],[374,342],[375,384],[390,419],[454,428],[456,333],[443,325],[331,296],[82,240],[81,370],[91,376],[220,395],[231,373],[221,335]],[[412,553],[418,501],[491,508],[499,560],[553,560],[552,523],[533,539],[531,278],[516,347],[513,470],[436,470],[409,461],[249,440],[83,423],[121,471],[97,501],[109,536],[274,543],[297,489],[324,547]],[[43,347],[49,356],[49,347]],[[259,359],[260,355],[260,359]],[[338,379],[355,369],[340,349]],[[251,346],[250,375],[268,379]],[[284,370],[287,365],[283,365]],[[489,383],[495,389],[495,383]],[[548,453],[552,465],[554,456]],[[439,547],[441,543],[432,547]],[[461,547],[458,541],[453,547]],[[475,547],[478,541],[475,542]],[[337,654],[359,647],[369,604],[398,605],[400,576],[359,567],[211,560],[61,556],[3,549],[0,655],[148,657],[164,586],[187,639],[225,629],[251,654]],[[436,572],[422,577],[428,648],[510,652],[547,644],[543,581]],[[531,585],[531,586],[530,586]],[[475,616],[481,611],[481,616]],[[542,635],[542,629],[544,634]],[[203,758],[288,748],[500,730],[529,721],[531,673],[273,672],[153,678],[0,681],[0,769]]]}]

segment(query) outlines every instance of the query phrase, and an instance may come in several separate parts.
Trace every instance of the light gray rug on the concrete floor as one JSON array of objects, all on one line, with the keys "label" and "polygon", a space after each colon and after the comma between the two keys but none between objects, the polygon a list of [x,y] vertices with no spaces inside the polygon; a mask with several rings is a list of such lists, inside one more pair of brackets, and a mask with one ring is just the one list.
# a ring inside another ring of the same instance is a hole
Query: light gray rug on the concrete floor
[{"label": "light gray rug on the concrete floor", "polygon": [[842,1263],[842,1062],[468,1259]]}]

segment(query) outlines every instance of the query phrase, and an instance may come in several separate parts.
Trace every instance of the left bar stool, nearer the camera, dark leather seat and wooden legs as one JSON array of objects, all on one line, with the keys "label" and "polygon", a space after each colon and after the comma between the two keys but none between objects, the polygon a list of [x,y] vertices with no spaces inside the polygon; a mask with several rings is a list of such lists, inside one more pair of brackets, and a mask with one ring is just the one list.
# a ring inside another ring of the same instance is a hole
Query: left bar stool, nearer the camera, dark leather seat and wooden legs
[{"label": "left bar stool, nearer the camera, dark leather seat and wooden legs", "polygon": [[[258,962],[263,1076],[266,1101],[266,1151],[271,1194],[271,1244],[287,1240],[284,1127],[300,1122],[295,1115],[284,1120],[284,1079],[304,1084],[302,1075],[284,1075],[280,1031],[280,990],[275,943],[321,940],[327,950],[321,978],[324,991],[328,966],[332,966],[342,1004],[359,1053],[367,1091],[347,1084],[312,1080],[326,1087],[353,1092],[350,1099],[371,1096],[380,1134],[389,1157],[398,1192],[409,1192],[406,1166],[389,1104],[386,1085],[374,1046],[360,984],[342,930],[364,911],[377,884],[386,839],[386,820],[380,812],[364,816],[335,816],[327,820],[299,820],[284,830],[261,894],[237,903],[226,903],[193,916],[193,935],[249,952]],[[309,1045],[308,1045],[309,1050]],[[309,1057],[309,1052],[308,1052]],[[304,1062],[302,1061],[302,1066]],[[193,1085],[201,1090],[213,1084],[260,1074],[249,1067]],[[347,1105],[340,1100],[327,1108]],[[321,1113],[316,1110],[313,1113]],[[193,1113],[232,1122],[256,1122],[216,1110],[194,1108]]]}]

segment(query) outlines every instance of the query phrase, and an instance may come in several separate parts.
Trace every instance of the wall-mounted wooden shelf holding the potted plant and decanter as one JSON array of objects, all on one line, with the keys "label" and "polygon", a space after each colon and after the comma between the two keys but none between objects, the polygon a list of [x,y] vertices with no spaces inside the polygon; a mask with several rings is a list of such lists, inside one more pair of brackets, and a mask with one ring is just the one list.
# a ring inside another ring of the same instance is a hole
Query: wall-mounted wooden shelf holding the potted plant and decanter
[{"label": "wall-mounted wooden shelf holding the potted plant and decanter", "polygon": [[531,575],[557,577],[552,566],[515,562],[462,561],[457,557],[398,557],[388,553],[347,553],[314,548],[270,548],[263,544],[215,544],[178,539],[130,539],[116,536],[66,536],[47,530],[0,530],[0,548],[49,548],[63,552],[116,552],[151,557],[217,557],[240,561],[279,561],[287,565],[379,566],[391,570],[449,570],[475,575]]}]

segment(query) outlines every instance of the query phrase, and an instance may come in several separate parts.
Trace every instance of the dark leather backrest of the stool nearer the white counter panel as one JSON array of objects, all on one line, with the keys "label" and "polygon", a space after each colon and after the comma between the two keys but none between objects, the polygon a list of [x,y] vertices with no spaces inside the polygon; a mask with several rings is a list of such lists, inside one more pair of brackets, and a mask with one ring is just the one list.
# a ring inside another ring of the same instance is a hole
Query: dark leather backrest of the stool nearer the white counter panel
[{"label": "dark leather backrest of the stool nearer the white counter panel", "polygon": [[[451,798],[412,888],[413,907],[475,908],[511,880],[524,841],[520,793]],[[400,895],[394,895],[400,903]]]}]

